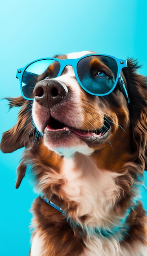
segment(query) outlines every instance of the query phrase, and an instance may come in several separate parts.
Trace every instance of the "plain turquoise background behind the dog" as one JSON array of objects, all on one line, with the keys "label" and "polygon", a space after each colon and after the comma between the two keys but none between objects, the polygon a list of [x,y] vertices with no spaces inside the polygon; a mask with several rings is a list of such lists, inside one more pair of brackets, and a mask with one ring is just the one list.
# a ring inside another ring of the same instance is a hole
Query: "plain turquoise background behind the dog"
[{"label": "plain turquoise background behind the dog", "polygon": [[[1,0],[0,98],[20,95],[17,68],[42,57],[94,50],[144,63],[147,75],[146,0]],[[0,101],[0,134],[11,128],[18,109]],[[29,209],[35,194],[24,178],[15,189],[22,150],[0,152],[0,255],[29,253]],[[147,175],[146,175],[147,177]],[[146,182],[147,184],[147,182]],[[146,193],[143,202],[147,209]]]}]

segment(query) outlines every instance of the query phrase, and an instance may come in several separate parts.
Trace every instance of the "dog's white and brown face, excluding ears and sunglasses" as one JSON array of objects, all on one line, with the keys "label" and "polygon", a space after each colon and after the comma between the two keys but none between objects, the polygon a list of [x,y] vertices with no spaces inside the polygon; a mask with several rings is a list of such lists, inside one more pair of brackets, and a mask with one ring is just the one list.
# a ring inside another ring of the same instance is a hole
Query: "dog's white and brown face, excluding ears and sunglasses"
[{"label": "dog's white and brown face, excluding ears and sunglasses", "polygon": [[[79,58],[90,53],[58,58]],[[127,136],[129,112],[118,86],[105,97],[90,95],[80,87],[70,65],[53,79],[49,70],[41,74],[34,96],[35,125],[44,135],[44,144],[59,155],[71,156],[75,152],[91,155],[98,151],[99,155],[101,152],[107,155],[109,148],[116,148],[118,138],[123,143]]]}]

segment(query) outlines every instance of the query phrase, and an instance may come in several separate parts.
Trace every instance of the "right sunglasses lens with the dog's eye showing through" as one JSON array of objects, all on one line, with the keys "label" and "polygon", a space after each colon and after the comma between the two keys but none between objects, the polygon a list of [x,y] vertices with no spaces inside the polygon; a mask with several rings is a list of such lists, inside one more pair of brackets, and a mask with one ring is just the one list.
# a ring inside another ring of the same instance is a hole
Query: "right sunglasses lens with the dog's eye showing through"
[{"label": "right sunglasses lens with the dog's eye showing through", "polygon": [[77,64],[79,80],[90,94],[108,94],[116,81],[118,66],[108,56],[87,56]]}]

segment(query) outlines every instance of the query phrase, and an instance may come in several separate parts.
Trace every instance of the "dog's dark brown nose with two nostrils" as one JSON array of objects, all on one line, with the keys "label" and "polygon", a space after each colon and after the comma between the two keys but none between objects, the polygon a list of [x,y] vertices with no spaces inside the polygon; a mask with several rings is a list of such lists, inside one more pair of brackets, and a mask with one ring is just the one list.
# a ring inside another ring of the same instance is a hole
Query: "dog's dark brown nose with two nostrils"
[{"label": "dog's dark brown nose with two nostrils", "polygon": [[44,108],[50,108],[62,101],[68,94],[64,83],[53,79],[40,81],[35,85],[34,98]]}]

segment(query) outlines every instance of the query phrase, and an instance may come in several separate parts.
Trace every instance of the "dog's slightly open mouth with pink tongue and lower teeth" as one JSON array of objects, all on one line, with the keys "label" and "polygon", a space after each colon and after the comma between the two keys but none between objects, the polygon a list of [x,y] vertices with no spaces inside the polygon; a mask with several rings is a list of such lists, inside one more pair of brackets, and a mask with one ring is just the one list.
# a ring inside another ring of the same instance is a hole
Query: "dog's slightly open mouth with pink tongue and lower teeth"
[{"label": "dog's slightly open mouth with pink tongue and lower teeth", "polygon": [[46,132],[73,132],[81,137],[101,137],[110,130],[110,124],[105,122],[102,128],[95,130],[80,130],[70,126],[67,126],[60,121],[57,121],[53,117],[50,118],[46,125]]}]

